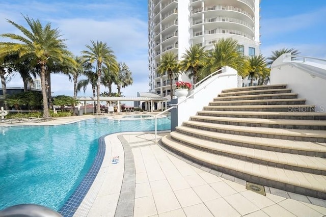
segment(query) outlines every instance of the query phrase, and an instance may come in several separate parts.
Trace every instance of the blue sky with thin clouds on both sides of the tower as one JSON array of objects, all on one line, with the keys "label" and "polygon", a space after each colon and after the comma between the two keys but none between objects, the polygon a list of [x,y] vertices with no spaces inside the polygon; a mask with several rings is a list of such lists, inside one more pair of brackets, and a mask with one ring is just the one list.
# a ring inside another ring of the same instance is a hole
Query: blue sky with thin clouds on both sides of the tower
[{"label": "blue sky with thin clouds on both sides of the tower", "polygon": [[[68,49],[76,56],[87,50],[91,40],[106,42],[117,61],[126,63],[132,72],[133,85],[122,88],[122,95],[135,97],[137,92],[149,90],[146,0],[1,0],[0,34],[20,34],[7,19],[27,28],[23,15],[44,24],[50,22],[67,39]],[[261,0],[262,55],[269,57],[271,51],[295,48],[302,56],[326,59],[325,20],[325,0]],[[23,87],[19,75],[7,87]],[[73,83],[66,75],[52,74],[51,88],[53,96],[73,96]],[[100,92],[103,91],[108,89],[101,86]],[[115,86],[113,92],[117,92]],[[86,93],[78,93],[78,96],[91,95],[91,86]]]}]

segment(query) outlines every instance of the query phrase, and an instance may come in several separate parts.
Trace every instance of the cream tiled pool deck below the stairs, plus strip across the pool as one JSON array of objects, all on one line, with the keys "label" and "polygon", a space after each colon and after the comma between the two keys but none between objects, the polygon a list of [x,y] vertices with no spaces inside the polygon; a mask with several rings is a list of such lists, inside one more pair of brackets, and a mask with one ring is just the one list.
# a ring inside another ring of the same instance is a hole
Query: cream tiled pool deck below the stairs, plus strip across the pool
[{"label": "cream tiled pool deck below the stairs, plus strip across the pool", "polygon": [[[92,116],[40,124],[85,118]],[[266,196],[248,191],[243,180],[169,153],[154,142],[153,133],[115,133],[105,137],[105,144],[101,169],[74,216],[326,215],[324,200],[274,188],[267,188]]]}]

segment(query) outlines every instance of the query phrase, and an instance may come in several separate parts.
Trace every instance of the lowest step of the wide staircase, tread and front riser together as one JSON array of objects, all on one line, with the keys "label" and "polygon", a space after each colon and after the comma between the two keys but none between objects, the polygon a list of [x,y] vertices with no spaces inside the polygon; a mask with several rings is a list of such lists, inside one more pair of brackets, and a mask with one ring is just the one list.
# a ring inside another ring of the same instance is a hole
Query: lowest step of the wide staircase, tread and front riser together
[{"label": "lowest step of the wide staircase, tread and front riser together", "polygon": [[207,153],[178,143],[172,140],[170,135],[163,137],[161,142],[186,158],[244,180],[280,189],[291,188],[293,192],[302,192],[305,195],[326,199],[326,176],[270,167]]}]

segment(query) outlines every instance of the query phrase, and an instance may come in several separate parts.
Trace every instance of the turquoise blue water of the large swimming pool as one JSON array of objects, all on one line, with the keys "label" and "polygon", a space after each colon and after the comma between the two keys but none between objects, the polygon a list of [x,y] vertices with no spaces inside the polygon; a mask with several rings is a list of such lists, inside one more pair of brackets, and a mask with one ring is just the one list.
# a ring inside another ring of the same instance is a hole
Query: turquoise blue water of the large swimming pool
[{"label": "turquoise blue water of the large swimming pool", "polygon": [[[56,126],[0,126],[0,210],[35,203],[59,210],[92,165],[98,138],[154,130],[154,120],[90,119]],[[168,118],[158,130],[170,129]]]}]

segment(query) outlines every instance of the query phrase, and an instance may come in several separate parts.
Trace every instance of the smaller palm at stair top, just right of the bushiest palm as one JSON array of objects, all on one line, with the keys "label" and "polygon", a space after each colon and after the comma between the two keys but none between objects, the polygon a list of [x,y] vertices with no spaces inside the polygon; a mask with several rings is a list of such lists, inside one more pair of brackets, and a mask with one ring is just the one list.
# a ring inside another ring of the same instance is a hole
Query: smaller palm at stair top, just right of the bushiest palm
[{"label": "smaller palm at stair top, just right of the bushiest palm", "polygon": [[259,77],[265,78],[269,76],[269,68],[267,68],[265,58],[260,54],[259,56],[252,56],[248,59],[249,63],[249,78],[251,79],[250,86],[253,85],[253,80]]}]

